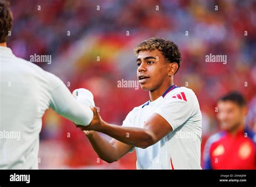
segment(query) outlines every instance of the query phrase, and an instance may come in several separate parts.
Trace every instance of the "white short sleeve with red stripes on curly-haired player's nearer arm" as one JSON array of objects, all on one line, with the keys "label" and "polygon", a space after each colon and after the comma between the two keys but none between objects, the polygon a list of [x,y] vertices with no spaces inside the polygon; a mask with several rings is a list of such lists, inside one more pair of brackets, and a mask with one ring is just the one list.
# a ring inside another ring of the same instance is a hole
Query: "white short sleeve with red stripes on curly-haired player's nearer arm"
[{"label": "white short sleeve with red stripes on curly-haired player's nearer arm", "polygon": [[[179,95],[180,93],[178,93]],[[177,94],[175,94],[177,96]],[[167,95],[163,103],[158,106],[156,113],[163,117],[172,126],[174,131],[179,126],[183,125],[185,121],[191,117],[193,112],[193,101],[188,99],[188,94],[182,92],[180,98],[169,94]],[[184,97],[186,99],[184,99]]]}]

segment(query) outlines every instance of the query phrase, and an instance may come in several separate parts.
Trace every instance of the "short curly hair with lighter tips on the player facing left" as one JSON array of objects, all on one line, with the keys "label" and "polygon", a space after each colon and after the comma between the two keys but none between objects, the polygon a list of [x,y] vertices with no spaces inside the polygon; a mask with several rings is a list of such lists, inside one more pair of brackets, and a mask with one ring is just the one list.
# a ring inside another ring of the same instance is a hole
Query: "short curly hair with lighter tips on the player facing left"
[{"label": "short curly hair with lighter tips on the player facing left", "polygon": [[136,48],[134,48],[134,53],[137,56],[140,51],[153,51],[154,49],[158,49],[168,61],[178,63],[177,71],[179,70],[181,63],[181,53],[178,46],[171,40],[165,40],[163,38],[147,39],[141,42]]}]

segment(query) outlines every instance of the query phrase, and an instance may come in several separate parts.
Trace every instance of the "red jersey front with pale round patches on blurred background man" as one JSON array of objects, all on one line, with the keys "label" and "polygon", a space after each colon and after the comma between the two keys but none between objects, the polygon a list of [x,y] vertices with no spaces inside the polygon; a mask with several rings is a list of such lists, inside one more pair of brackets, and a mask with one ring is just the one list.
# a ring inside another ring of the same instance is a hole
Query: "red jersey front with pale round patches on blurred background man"
[{"label": "red jersey front with pale round patches on blurred background man", "polygon": [[255,143],[245,131],[224,133],[210,147],[212,169],[256,169]]}]

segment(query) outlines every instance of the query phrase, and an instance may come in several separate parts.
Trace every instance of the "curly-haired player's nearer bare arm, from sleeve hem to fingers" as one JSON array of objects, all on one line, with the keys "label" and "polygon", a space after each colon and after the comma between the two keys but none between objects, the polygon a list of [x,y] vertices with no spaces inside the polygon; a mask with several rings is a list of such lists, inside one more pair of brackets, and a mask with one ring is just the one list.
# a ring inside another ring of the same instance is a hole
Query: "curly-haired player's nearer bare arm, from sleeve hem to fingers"
[{"label": "curly-haired player's nearer bare arm, from sleeve hem to fingers", "polygon": [[159,114],[153,113],[143,128],[123,127],[103,121],[96,108],[93,108],[93,120],[89,126],[79,126],[82,130],[102,132],[131,147],[146,148],[158,142],[172,131],[171,125]]}]

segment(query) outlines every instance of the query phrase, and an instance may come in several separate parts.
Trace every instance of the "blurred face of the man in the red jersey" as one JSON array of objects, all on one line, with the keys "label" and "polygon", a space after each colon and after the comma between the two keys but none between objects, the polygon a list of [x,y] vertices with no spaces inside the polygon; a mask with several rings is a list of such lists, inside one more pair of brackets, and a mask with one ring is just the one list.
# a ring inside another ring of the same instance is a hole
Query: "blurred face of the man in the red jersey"
[{"label": "blurred face of the man in the red jersey", "polygon": [[233,131],[243,123],[245,107],[231,101],[218,102],[217,118],[220,121],[220,128],[225,131]]}]

